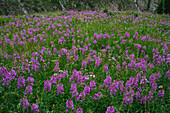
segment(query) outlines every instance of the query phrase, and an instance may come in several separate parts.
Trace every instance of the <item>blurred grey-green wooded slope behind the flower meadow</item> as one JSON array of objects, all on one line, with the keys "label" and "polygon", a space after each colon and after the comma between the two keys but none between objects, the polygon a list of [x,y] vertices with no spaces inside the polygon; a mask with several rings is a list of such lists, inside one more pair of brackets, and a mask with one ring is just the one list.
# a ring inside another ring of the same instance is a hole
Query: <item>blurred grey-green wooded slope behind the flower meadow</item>
[{"label": "blurred grey-green wooded slope behind the flower meadow", "polygon": [[[133,10],[153,12],[160,0],[0,0],[0,15],[55,10]],[[165,2],[168,0],[165,0]],[[165,3],[168,7],[168,3]]]}]

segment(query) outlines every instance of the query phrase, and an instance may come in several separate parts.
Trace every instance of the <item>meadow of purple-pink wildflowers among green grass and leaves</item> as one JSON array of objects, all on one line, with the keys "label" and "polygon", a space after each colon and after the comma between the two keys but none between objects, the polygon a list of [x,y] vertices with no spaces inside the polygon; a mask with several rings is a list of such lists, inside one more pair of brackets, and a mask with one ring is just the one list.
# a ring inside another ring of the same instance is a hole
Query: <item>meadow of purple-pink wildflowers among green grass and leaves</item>
[{"label": "meadow of purple-pink wildflowers among green grass and leaves", "polygon": [[110,12],[1,16],[0,111],[168,112],[170,17]]}]

